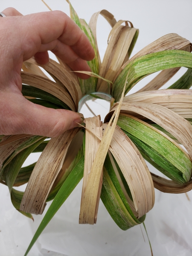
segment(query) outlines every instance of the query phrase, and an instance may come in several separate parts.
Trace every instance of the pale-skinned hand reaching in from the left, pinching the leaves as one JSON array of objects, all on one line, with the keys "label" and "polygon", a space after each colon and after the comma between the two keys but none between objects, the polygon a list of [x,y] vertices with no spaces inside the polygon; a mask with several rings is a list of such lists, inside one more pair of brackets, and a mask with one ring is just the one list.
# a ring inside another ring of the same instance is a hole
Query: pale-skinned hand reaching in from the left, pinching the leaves
[{"label": "pale-skinned hand reaching in from the left, pinching the leaves", "polygon": [[[57,137],[81,122],[78,113],[45,108],[21,93],[23,61],[35,56],[39,64],[49,62],[52,51],[74,71],[90,71],[87,61],[94,50],[86,35],[60,11],[23,16],[17,10],[2,11],[0,17],[0,134],[32,134]],[[79,77],[88,76],[79,73]]]}]

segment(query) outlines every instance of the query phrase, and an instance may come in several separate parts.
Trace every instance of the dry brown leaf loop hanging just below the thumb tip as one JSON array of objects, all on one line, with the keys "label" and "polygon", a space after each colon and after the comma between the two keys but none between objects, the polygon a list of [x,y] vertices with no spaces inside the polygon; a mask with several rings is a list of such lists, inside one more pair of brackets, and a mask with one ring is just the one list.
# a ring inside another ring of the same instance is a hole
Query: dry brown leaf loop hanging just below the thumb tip
[{"label": "dry brown leaf loop hanging just below the thumb tip", "polygon": [[49,191],[63,165],[67,149],[78,131],[79,128],[68,130],[49,141],[33,169],[20,210],[42,214]]}]

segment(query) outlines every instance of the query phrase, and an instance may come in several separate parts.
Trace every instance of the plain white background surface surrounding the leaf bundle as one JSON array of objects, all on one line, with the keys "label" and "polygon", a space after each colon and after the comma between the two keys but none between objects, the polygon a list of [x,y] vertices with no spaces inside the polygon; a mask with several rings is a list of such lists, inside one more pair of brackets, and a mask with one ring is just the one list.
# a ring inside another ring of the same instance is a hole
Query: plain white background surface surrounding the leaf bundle
[{"label": "plain white background surface surrounding the leaf bundle", "polygon": [[[71,0],[71,3],[79,17],[87,22],[94,12],[102,9],[111,12],[116,20],[130,20],[134,27],[140,29],[133,54],[172,32],[192,41],[191,0]],[[69,15],[68,4],[64,0],[47,0],[47,4],[53,10],[59,9]],[[47,11],[41,0],[1,1],[1,11],[10,6],[23,15]],[[101,17],[97,28],[99,49],[103,57],[110,26]],[[175,81],[174,78],[172,81]],[[155,206],[145,220],[154,256],[191,256],[192,202],[185,194],[164,194],[157,190],[155,193]],[[43,216],[34,216],[33,223],[17,212],[11,204],[7,187],[2,184],[0,195],[0,256],[22,256]],[[192,192],[188,196],[192,200]],[[79,225],[80,198],[81,184],[48,224],[30,251],[30,256],[151,255],[143,226],[120,230],[102,202],[99,205],[97,224]]]}]

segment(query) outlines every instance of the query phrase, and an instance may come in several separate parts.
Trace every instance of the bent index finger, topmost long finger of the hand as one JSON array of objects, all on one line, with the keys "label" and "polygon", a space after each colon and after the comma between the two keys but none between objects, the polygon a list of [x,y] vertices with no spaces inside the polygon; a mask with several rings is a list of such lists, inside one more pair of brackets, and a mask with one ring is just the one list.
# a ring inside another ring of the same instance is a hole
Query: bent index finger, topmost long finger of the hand
[{"label": "bent index finger, topmost long finger of the hand", "polygon": [[[20,26],[24,30],[23,43],[33,41],[37,50],[41,44],[49,44],[59,39],[63,44],[70,46],[82,59],[90,61],[94,58],[94,50],[87,36],[64,12],[52,11],[20,17]],[[25,26],[23,26],[25,24]],[[31,44],[25,44],[26,51],[31,51]],[[34,46],[33,46],[34,47]],[[25,48],[24,48],[25,49]],[[35,52],[32,54],[32,56]]]}]

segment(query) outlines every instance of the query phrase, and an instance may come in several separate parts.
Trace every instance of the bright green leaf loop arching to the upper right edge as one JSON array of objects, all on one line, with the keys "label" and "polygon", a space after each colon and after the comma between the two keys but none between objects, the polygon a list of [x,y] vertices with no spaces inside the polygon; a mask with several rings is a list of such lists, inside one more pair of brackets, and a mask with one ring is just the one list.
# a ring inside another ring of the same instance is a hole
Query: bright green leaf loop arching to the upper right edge
[{"label": "bright green leaf loop arching to the upper right edge", "polygon": [[[192,68],[192,53],[181,50],[167,50],[154,52],[136,58],[130,62],[119,74],[112,87],[112,95],[116,101],[119,100],[122,88],[125,84],[127,73],[129,72],[125,94],[137,84],[138,81],[160,70],[174,67]],[[130,71],[128,71],[130,69]]]}]

